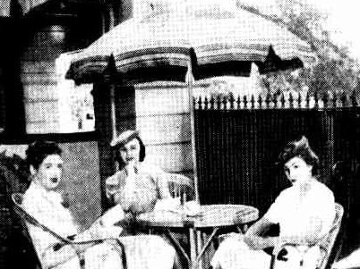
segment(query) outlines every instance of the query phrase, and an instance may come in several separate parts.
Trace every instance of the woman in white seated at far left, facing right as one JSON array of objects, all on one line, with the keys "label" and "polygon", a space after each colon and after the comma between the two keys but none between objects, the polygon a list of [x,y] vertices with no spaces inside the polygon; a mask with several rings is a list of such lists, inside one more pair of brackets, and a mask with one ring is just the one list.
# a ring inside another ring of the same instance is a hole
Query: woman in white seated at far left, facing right
[{"label": "woman in white seated at far left, facing right", "polygon": [[[39,223],[76,241],[119,238],[122,228],[113,223],[124,216],[120,206],[101,216],[88,230],[79,233],[80,227],[74,223],[73,215],[64,206],[59,192],[63,160],[61,149],[56,143],[37,141],[30,144],[27,160],[32,176],[22,205]],[[128,268],[169,269],[174,262],[175,250],[156,236],[119,238],[124,244],[124,254],[115,240],[106,240],[97,245],[61,245],[60,240],[41,227],[28,223],[28,228],[43,268],[78,269],[83,262],[85,269],[122,268],[122,257],[125,254]],[[162,263],[157,259],[162,260]]]}]

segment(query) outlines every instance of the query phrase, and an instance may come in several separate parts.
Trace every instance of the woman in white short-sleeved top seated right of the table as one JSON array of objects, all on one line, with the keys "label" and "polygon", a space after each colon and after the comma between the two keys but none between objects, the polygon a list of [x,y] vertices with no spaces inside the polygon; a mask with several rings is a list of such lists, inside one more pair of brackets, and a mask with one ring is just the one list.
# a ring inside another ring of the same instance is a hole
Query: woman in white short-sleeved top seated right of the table
[{"label": "woman in white short-sleeved top seated right of the table", "polygon": [[[287,144],[279,155],[287,179],[292,187],[284,189],[268,212],[244,234],[234,234],[220,244],[211,265],[214,268],[270,268],[271,256],[263,251],[274,248],[273,253],[284,260],[284,268],[292,268],[289,253],[279,250],[284,243],[316,244],[329,231],[335,218],[334,196],[330,189],[315,177],[318,157],[302,137]],[[279,236],[264,237],[274,224],[279,224]],[[315,268],[319,248],[312,248],[305,268]],[[278,261],[277,261],[278,262]],[[279,263],[281,265],[281,263]]]}]

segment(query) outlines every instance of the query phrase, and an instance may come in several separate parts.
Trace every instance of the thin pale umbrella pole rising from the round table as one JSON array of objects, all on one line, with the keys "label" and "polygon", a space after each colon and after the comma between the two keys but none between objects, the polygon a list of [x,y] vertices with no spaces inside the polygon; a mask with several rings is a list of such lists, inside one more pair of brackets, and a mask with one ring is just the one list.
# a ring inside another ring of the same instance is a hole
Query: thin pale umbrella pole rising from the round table
[{"label": "thin pale umbrella pole rising from the round table", "polygon": [[198,169],[196,162],[196,146],[195,146],[195,116],[193,112],[193,70],[192,64],[190,63],[188,66],[188,70],[186,73],[186,84],[188,91],[188,102],[189,102],[189,113],[190,113],[190,129],[191,129],[191,143],[192,143],[192,157],[193,157],[193,186],[195,191],[195,200],[200,203],[199,200],[199,188],[198,188]]}]

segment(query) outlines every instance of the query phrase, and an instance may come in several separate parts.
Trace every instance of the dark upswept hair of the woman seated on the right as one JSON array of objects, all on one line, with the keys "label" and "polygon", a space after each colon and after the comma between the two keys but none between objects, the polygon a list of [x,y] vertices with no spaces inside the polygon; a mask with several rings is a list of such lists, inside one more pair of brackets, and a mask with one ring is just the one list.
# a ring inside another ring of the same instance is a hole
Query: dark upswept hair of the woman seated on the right
[{"label": "dark upswept hair of the woman seated on the right", "polygon": [[285,146],[279,154],[279,164],[284,165],[287,161],[296,156],[301,157],[306,164],[312,165],[313,175],[317,174],[319,157],[313,152],[313,149],[309,145],[309,141],[304,136],[287,143],[287,146]]}]

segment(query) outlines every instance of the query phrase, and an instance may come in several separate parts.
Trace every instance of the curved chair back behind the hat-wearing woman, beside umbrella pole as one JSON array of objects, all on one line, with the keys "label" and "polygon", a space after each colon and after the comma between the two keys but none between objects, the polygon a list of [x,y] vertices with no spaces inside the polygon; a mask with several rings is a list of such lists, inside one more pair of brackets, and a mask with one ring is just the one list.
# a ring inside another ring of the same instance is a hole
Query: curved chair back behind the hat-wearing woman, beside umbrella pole
[{"label": "curved chair back behind the hat-wearing woman, beside umbrella pole", "polygon": [[195,197],[193,180],[184,175],[168,172],[167,184],[172,198],[180,197],[182,202],[186,202]]}]

